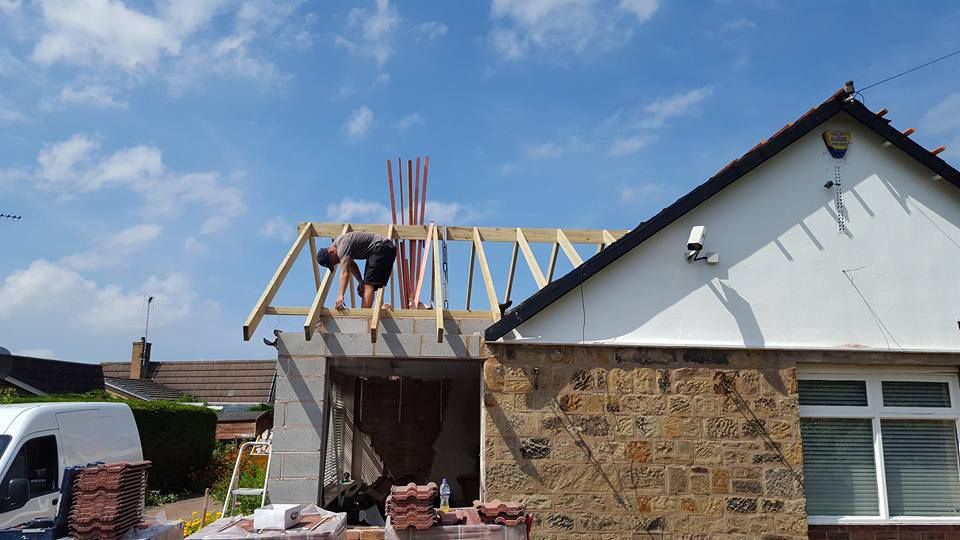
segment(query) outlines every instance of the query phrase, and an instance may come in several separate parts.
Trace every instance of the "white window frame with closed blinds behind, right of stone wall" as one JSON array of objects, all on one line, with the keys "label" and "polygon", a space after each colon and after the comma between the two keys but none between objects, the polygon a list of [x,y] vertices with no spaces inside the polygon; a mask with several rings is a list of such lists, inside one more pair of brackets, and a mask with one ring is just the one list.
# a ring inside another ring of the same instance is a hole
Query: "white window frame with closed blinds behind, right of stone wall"
[{"label": "white window frame with closed blinds behind, right of stone wall", "polygon": [[[800,418],[869,418],[873,430],[873,459],[877,470],[879,515],[807,516],[810,525],[957,525],[958,516],[891,516],[883,459],[881,420],[952,420],[960,452],[960,379],[955,369],[799,366],[798,380],[864,381],[866,406],[800,405]],[[950,407],[886,407],[883,405],[883,381],[947,383]],[[960,467],[958,467],[960,470]]]}]

